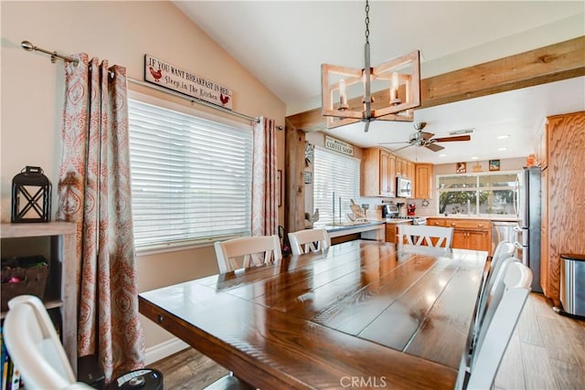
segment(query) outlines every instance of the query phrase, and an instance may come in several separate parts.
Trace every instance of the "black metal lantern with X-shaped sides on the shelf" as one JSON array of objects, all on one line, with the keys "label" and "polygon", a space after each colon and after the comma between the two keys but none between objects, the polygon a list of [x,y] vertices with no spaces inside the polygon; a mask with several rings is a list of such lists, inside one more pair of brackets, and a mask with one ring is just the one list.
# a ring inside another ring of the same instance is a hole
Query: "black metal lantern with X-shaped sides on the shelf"
[{"label": "black metal lantern with X-shaped sides on the shelf", "polygon": [[51,220],[51,182],[39,166],[27,166],[12,179],[13,223]]}]

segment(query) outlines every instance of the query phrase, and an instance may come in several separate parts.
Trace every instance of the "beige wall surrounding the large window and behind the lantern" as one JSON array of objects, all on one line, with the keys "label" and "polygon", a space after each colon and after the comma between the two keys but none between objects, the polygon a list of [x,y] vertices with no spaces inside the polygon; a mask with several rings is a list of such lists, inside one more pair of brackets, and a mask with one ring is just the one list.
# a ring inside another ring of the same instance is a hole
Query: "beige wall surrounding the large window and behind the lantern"
[{"label": "beige wall surrounding the large window and behind the lantern", "polygon": [[[20,42],[62,54],[85,52],[127,68],[132,79],[144,79],[144,54],[164,59],[234,90],[233,110],[264,115],[284,124],[285,107],[270,90],[218,47],[170,2],[5,2],[2,17],[2,139],[0,215],[10,219],[10,187],[26,165],[41,166],[53,184],[55,216],[60,119],[63,102],[63,62],[27,52]],[[237,37],[235,37],[237,38]],[[186,100],[129,83],[129,89],[173,100]],[[198,110],[218,111],[197,106]],[[234,119],[234,117],[229,117]],[[284,134],[278,136],[278,168],[284,167]],[[282,221],[282,208],[280,210]],[[217,272],[212,247],[139,256],[140,290]],[[144,320],[146,347],[170,335]]]}]

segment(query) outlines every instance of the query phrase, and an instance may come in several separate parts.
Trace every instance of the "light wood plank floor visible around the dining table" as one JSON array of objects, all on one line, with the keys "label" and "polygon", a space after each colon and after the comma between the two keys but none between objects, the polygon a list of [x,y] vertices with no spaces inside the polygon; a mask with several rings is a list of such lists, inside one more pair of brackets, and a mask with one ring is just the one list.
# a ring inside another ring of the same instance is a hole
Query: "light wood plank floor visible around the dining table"
[{"label": "light wood plank floor visible around the dining table", "polygon": [[[149,367],[161,371],[165,390],[197,390],[228,371],[189,348]],[[500,370],[495,390],[585,389],[585,321],[552,311],[531,293]]]}]

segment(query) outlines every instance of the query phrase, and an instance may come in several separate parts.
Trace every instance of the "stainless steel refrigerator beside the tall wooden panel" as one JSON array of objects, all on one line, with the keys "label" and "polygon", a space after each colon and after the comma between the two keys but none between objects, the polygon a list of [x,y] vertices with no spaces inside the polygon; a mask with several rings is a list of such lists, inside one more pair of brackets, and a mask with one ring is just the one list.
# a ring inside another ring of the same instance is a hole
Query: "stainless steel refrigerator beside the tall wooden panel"
[{"label": "stainless steel refrigerator beside the tall wooden panel", "polygon": [[520,176],[518,199],[518,243],[522,262],[532,270],[532,290],[540,287],[540,167],[524,168]]}]

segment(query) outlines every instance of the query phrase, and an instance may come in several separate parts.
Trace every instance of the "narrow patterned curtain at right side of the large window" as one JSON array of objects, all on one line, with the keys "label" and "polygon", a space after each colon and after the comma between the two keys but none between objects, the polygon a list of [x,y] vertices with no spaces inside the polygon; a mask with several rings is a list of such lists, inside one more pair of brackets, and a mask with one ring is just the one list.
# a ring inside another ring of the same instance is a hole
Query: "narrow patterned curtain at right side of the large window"
[{"label": "narrow patterned curtain at right side of the large window", "polygon": [[271,236],[278,228],[274,121],[262,117],[253,132],[252,236]]}]

